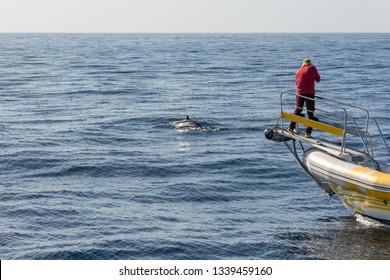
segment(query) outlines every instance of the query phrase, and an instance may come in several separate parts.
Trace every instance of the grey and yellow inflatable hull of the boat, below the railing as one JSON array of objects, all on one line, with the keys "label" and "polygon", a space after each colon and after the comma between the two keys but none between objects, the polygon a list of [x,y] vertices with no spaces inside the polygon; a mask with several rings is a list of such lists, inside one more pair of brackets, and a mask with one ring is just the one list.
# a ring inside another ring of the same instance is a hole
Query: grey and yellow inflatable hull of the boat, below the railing
[{"label": "grey and yellow inflatable hull of the boat, below the railing", "polygon": [[390,222],[390,174],[343,161],[309,149],[304,154],[309,172],[326,182],[353,213]]}]

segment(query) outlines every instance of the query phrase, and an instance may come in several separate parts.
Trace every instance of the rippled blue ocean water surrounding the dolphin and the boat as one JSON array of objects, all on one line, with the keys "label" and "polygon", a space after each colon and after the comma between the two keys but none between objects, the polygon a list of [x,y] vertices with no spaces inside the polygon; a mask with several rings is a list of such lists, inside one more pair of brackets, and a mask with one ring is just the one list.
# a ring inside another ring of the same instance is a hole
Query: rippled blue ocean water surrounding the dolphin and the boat
[{"label": "rippled blue ocean water surrounding the dolphin and the boat", "polygon": [[389,138],[390,34],[0,34],[0,258],[389,259],[263,136],[305,57]]}]

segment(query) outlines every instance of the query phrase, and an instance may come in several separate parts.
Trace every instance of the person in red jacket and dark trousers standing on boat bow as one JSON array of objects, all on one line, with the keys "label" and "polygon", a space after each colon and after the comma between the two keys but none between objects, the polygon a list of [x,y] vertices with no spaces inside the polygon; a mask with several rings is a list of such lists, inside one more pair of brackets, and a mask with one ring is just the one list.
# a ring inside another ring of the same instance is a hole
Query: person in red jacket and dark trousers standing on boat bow
[{"label": "person in red jacket and dark trousers standing on boat bow", "polygon": [[[298,69],[296,73],[296,108],[294,111],[294,115],[303,116],[302,110],[303,105],[306,103],[306,110],[308,118],[314,120],[314,110],[315,110],[315,102],[314,102],[314,93],[315,93],[315,82],[319,83],[321,81],[320,74],[318,74],[317,68],[311,64],[311,60],[309,58],[305,58],[303,60],[302,67]],[[294,131],[296,126],[295,122],[291,122],[289,131]],[[311,137],[311,127],[306,127],[305,137]]]}]

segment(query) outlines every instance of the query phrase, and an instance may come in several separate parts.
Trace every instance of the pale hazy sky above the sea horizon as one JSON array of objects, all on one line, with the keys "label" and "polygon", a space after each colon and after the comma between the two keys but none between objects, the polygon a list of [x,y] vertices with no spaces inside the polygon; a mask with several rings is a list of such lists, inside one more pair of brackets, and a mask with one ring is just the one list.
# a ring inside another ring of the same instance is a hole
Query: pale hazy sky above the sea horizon
[{"label": "pale hazy sky above the sea horizon", "polygon": [[0,0],[0,32],[390,32],[390,0]]}]

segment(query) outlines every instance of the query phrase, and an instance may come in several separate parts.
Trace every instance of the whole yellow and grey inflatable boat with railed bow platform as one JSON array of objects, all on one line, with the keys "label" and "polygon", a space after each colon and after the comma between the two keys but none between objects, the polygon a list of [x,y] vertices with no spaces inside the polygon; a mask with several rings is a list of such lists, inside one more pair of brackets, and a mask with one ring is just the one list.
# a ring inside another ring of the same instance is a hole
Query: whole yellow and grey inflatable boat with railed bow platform
[{"label": "whole yellow and grey inflatable boat with railed bow platform", "polygon": [[[390,222],[390,150],[375,118],[363,108],[316,97],[316,119],[295,108],[295,93],[282,92],[281,113],[265,137],[283,142],[299,166],[329,197],[337,195],[353,213]],[[290,131],[289,123],[297,123]],[[315,137],[306,138],[306,126]]]}]

